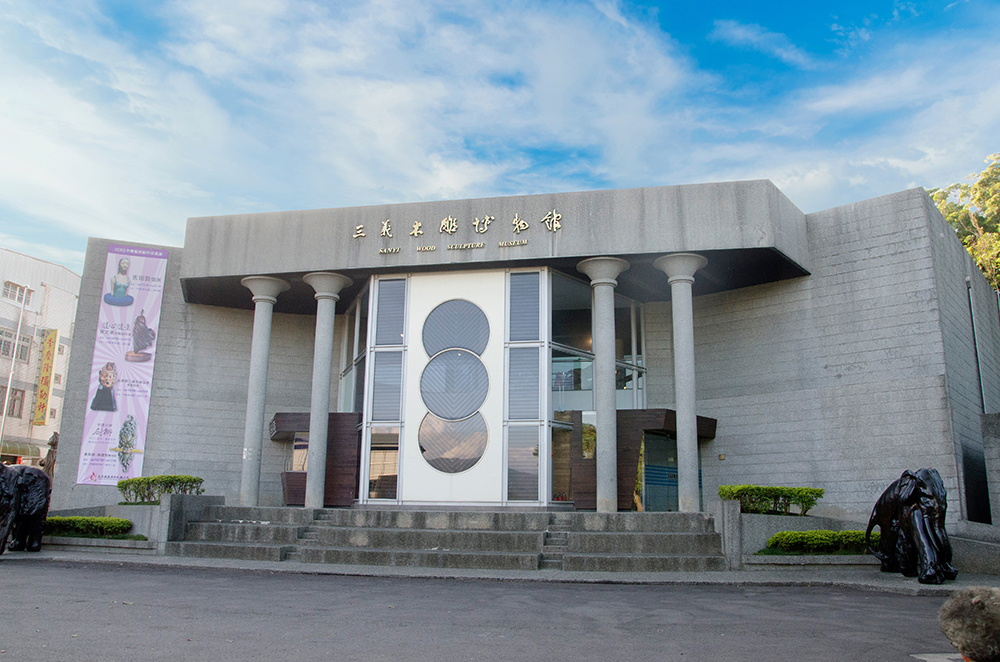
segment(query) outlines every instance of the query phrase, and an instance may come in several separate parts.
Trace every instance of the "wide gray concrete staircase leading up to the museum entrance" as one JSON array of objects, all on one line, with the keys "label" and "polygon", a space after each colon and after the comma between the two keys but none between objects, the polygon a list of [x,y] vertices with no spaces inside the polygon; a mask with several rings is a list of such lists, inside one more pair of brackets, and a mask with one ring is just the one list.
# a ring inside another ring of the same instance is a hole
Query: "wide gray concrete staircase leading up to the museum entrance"
[{"label": "wide gray concrete staircase leading up to the museum entrance", "polygon": [[350,565],[667,572],[725,570],[702,513],[212,506],[167,554]]}]

